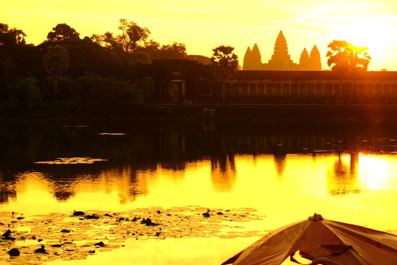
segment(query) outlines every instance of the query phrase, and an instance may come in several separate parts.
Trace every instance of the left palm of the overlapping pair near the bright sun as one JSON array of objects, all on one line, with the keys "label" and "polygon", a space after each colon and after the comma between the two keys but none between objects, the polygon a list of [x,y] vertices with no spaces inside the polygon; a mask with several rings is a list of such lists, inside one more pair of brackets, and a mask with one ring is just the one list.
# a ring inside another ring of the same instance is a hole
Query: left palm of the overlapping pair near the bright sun
[{"label": "left palm of the overlapping pair near the bright sun", "polygon": [[339,95],[341,96],[341,104],[343,104],[342,77],[349,72],[349,43],[333,40],[327,47],[330,48],[326,54],[326,57],[328,57],[327,64],[339,76]]}]

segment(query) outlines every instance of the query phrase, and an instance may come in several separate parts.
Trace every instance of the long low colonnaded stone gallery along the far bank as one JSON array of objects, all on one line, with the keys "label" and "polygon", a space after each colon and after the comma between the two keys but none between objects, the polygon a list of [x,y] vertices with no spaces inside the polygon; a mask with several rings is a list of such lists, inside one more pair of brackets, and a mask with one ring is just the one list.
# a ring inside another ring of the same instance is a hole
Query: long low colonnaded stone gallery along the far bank
[{"label": "long low colonnaded stone gallery along the far bank", "polygon": [[[256,50],[256,49],[254,49]],[[314,51],[313,55],[316,54]],[[277,57],[274,57],[277,58]],[[301,63],[310,60],[307,51]],[[275,61],[276,62],[276,61]],[[150,76],[154,102],[220,103],[222,82],[212,75],[210,65],[190,60],[153,60],[141,65],[138,78]],[[352,80],[332,71],[237,70],[225,82],[226,103],[335,104],[349,98]],[[366,71],[355,80],[353,104],[396,104],[397,72]]]}]

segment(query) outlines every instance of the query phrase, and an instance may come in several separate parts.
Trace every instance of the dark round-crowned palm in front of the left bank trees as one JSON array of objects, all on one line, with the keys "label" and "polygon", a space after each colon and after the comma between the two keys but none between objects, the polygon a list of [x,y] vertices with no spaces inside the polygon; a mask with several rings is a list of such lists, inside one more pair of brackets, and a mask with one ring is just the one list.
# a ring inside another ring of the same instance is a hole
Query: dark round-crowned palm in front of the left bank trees
[{"label": "dark round-crowned palm in front of the left bank trees", "polygon": [[58,77],[69,67],[66,49],[59,45],[49,46],[44,54],[44,68],[54,78],[54,100],[58,92]]}]

